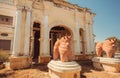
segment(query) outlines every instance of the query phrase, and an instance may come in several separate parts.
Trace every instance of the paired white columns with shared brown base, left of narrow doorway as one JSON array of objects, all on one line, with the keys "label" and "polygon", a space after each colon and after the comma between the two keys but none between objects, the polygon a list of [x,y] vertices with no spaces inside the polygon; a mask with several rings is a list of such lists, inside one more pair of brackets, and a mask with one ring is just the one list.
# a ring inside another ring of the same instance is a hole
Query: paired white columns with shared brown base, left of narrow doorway
[{"label": "paired white columns with shared brown base, left of narrow doorway", "polygon": [[22,69],[31,66],[32,58],[23,55],[29,54],[29,38],[30,38],[30,13],[29,12],[26,13],[26,9],[24,8],[22,11],[18,10],[16,15],[12,55],[18,56],[9,57],[11,69]]}]

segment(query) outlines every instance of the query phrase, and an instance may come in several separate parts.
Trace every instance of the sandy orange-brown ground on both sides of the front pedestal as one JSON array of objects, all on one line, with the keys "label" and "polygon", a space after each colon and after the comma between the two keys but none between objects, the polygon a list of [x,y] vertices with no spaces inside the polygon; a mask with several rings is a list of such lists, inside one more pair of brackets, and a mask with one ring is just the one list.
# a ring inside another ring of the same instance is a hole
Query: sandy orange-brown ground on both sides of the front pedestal
[{"label": "sandy orange-brown ground on both sides of the front pedestal", "polygon": [[[94,70],[92,63],[78,62],[82,66],[81,78],[120,78],[120,73]],[[0,78],[50,78],[47,65],[33,65],[29,69],[1,69]]]}]

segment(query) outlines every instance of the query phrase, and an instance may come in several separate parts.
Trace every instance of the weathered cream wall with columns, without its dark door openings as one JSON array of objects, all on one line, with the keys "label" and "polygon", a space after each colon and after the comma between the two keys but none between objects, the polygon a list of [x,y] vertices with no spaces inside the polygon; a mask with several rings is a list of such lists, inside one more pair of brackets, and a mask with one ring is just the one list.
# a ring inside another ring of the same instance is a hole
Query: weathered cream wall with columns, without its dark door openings
[{"label": "weathered cream wall with columns, without its dark door openings", "polygon": [[[50,58],[49,33],[55,26],[62,26],[70,31],[74,55],[91,54],[94,51],[93,17],[95,14],[89,9],[62,0],[13,0],[12,2],[13,4],[10,5],[0,3],[2,6],[0,15],[13,17],[12,55],[30,56],[33,53],[34,22],[40,24],[40,59]],[[80,37],[80,29],[84,32],[84,38]]]}]

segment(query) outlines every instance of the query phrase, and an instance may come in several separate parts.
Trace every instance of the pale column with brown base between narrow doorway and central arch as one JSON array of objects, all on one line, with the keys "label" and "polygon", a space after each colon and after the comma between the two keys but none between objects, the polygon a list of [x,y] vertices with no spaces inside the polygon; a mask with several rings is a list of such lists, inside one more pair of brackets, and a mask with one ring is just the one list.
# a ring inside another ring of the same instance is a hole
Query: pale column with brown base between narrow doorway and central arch
[{"label": "pale column with brown base between narrow doorway and central arch", "polygon": [[44,26],[43,32],[41,36],[41,47],[40,47],[40,56],[38,63],[46,63],[50,60],[50,53],[49,53],[49,32],[48,32],[48,14],[45,13],[44,17]]}]

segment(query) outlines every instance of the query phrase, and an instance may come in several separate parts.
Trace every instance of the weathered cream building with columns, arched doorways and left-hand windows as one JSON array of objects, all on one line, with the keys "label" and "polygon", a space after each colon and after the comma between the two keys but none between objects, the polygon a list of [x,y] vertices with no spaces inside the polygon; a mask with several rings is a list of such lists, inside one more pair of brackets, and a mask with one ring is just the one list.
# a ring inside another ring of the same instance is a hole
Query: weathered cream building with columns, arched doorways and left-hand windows
[{"label": "weathered cream building with columns, arched doorways and left-hand windows", "polygon": [[0,48],[11,57],[52,58],[53,46],[72,36],[74,59],[94,52],[93,18],[88,8],[65,0],[0,0]]}]

